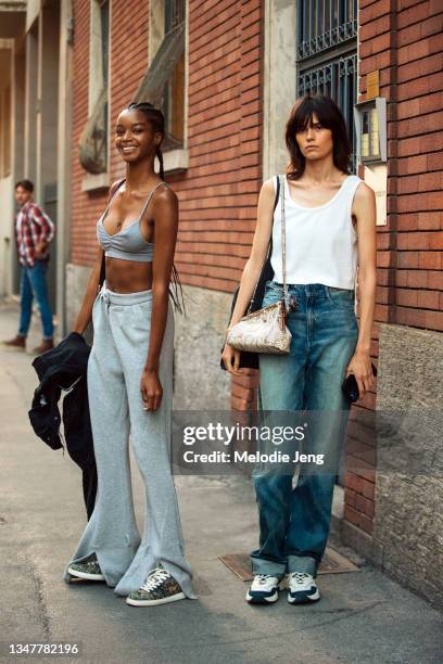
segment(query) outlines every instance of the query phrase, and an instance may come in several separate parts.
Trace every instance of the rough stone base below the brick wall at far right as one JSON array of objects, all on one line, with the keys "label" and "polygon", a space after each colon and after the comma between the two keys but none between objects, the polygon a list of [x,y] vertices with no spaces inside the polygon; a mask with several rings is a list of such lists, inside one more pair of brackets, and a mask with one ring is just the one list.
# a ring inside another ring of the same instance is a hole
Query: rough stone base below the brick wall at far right
[{"label": "rough stone base below the brick wall at far right", "polygon": [[[443,606],[443,335],[381,324],[378,417],[397,423],[377,446],[372,536],[343,521],[343,544],[408,589]],[[398,417],[396,413],[403,413]],[[418,424],[417,424],[418,422]]]}]

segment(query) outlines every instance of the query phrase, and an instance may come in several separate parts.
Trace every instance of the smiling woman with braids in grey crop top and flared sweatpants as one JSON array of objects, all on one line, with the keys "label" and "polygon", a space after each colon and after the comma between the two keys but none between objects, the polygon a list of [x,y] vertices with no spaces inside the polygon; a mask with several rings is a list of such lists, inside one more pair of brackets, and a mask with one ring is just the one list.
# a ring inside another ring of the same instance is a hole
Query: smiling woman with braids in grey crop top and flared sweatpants
[{"label": "smiling woman with braids in grey crop top and flared sweatpants", "polygon": [[[195,597],[169,467],[169,282],[178,202],[164,182],[164,133],[163,115],[151,104],[129,104],[118,116],[115,146],[126,163],[126,176],[112,186],[98,221],[100,248],[74,327],[83,334],[92,318],[88,396],[98,496],[64,578],[104,580],[136,606]],[[102,260],[105,282],[97,294]],[[145,487],[141,540],[132,502],[129,433]]]}]

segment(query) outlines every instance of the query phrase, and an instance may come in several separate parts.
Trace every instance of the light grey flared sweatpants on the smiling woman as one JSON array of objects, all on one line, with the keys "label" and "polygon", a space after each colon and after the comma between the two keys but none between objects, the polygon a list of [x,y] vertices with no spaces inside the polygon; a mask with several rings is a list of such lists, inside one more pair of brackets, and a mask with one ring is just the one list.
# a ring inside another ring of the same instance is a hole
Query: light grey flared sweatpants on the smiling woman
[{"label": "light grey flared sweatpants on the smiling woman", "polygon": [[[103,285],[93,309],[88,396],[98,470],[92,516],[67,567],[96,552],[117,595],[137,590],[162,565],[195,598],[185,559],[177,497],[170,474],[174,312],[169,302],[160,358],[162,404],[143,410],[140,379],[148,356],[152,291],[121,294]],[[129,432],[145,485],[143,537],[136,524],[129,468]]]}]

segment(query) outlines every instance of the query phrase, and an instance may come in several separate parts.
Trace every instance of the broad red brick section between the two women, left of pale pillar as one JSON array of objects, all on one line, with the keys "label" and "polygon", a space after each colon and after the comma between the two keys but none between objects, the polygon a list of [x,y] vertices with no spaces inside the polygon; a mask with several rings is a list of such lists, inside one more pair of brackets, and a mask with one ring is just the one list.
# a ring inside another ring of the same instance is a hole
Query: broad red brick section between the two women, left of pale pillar
[{"label": "broad red brick section between the two women, left of pale pillar", "polygon": [[232,292],[261,180],[261,1],[189,3],[189,169],[177,182],[185,283]]}]

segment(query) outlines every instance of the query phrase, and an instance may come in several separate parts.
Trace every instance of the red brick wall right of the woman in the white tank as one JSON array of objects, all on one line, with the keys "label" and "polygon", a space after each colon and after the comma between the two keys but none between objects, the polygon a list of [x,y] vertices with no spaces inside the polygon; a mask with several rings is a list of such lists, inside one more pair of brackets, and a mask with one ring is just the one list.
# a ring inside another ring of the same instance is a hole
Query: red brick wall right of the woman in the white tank
[{"label": "red brick wall right of the woman in the white tank", "polygon": [[[379,69],[388,100],[388,225],[378,227],[379,322],[443,331],[443,5],[438,0],[359,1],[359,101]],[[375,407],[375,394],[362,403]],[[352,454],[349,456],[352,464]],[[372,532],[375,471],[347,472],[345,519]]]}]

